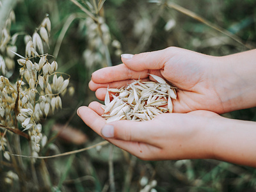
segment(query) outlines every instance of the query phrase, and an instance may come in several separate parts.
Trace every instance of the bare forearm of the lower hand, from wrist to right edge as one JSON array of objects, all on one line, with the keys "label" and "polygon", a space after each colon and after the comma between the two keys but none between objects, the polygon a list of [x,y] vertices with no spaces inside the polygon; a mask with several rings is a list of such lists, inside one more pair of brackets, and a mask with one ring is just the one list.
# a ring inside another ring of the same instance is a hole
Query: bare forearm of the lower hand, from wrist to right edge
[{"label": "bare forearm of the lower hand, from wrist to right edge", "polygon": [[256,167],[256,122],[223,118],[209,126],[212,159]]}]

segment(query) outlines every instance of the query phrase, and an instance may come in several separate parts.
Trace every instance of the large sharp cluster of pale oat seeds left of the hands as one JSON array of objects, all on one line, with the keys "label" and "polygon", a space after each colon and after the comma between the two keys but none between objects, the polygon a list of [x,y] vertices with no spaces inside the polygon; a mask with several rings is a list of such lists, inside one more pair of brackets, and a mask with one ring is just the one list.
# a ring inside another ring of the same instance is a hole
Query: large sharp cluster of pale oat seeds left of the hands
[{"label": "large sharp cluster of pale oat seeds left of the hands", "polygon": [[[22,81],[17,85],[20,93],[20,110],[17,120],[20,122],[23,131],[29,130],[32,141],[33,155],[36,156],[40,150],[42,140],[42,125],[39,124],[41,118],[47,117],[50,111],[62,107],[60,93],[67,89],[69,79],[56,72],[58,63],[49,63],[49,56],[44,54],[43,41],[49,46],[49,33],[51,22],[46,17],[40,28],[40,35],[35,31],[32,38],[26,36],[26,59],[18,60],[21,79],[25,79],[27,84]],[[39,51],[43,55],[39,55]],[[38,58],[40,58],[38,60]],[[36,59],[38,63],[36,63]]]}]

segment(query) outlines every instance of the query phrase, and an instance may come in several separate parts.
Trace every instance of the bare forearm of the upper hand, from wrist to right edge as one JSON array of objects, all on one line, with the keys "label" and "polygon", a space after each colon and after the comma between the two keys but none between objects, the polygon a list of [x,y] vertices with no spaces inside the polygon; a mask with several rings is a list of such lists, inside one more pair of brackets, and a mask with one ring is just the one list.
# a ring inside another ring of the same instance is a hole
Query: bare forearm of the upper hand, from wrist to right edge
[{"label": "bare forearm of the upper hand, from wrist to right edge", "polygon": [[256,49],[220,57],[216,69],[225,112],[256,106]]}]

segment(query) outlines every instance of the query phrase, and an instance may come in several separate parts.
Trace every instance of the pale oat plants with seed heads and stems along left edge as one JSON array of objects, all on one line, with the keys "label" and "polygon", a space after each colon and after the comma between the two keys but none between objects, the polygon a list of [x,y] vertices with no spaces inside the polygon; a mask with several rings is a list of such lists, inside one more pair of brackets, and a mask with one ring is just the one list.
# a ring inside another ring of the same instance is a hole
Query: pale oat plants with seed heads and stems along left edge
[{"label": "pale oat plants with seed heads and stems along left edge", "polygon": [[[49,17],[45,17],[33,35],[24,36],[24,56],[17,53],[15,46],[19,33],[10,35],[10,26],[14,20],[15,14],[11,11],[1,31],[0,160],[1,164],[12,164],[4,174],[2,182],[13,185],[14,180],[19,180],[20,189],[26,191],[31,189],[31,186],[26,184],[26,164],[19,157],[24,154],[20,136],[27,140],[24,148],[28,148],[29,156],[37,157],[47,143],[47,136],[42,131],[40,121],[62,108],[60,96],[67,91],[70,76],[57,72],[58,63],[55,58],[45,53],[45,49],[49,47],[51,32]],[[15,68],[15,56],[19,57],[16,62],[19,66],[19,77],[12,82],[8,77]],[[33,189],[38,184],[34,163],[35,159],[31,159],[32,173],[29,175],[32,174],[33,177]]]}]

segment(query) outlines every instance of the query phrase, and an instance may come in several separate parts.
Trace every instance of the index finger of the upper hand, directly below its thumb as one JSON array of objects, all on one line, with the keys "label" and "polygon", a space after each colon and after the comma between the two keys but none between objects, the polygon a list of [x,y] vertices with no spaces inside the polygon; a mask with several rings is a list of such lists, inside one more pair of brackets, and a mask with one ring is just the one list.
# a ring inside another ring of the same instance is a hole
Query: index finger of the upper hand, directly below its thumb
[{"label": "index finger of the upper hand, directly below its thumb", "polygon": [[127,68],[124,64],[120,64],[113,67],[100,68],[93,72],[92,81],[94,83],[111,83],[127,79],[143,79],[148,76],[147,74],[148,70],[134,72],[131,68]]}]

